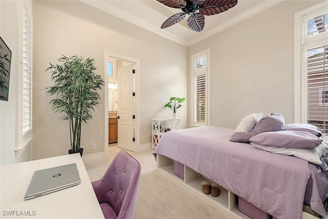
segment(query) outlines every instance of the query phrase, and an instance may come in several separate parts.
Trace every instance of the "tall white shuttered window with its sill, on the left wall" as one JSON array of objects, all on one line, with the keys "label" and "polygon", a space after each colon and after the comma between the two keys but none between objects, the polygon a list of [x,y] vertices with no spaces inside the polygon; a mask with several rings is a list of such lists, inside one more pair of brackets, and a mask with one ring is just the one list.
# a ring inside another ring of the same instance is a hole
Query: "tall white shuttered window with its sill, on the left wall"
[{"label": "tall white shuttered window with its sill, on the left wall", "polygon": [[[19,66],[19,98],[18,106],[20,108],[18,116],[20,122],[19,127],[19,139],[16,145],[15,152],[23,151],[31,142],[32,138],[32,5],[31,1],[24,0],[22,2],[21,12],[21,39],[20,45],[20,60]],[[16,155],[17,156],[17,155]]]}]

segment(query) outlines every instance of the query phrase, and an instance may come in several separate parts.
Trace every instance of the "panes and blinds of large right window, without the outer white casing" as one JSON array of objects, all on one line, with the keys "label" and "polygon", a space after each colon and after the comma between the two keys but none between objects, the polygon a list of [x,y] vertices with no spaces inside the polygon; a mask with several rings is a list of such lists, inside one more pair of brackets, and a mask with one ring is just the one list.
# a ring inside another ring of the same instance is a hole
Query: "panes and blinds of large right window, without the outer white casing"
[{"label": "panes and blinds of large right window, without the outer white casing", "polygon": [[303,16],[303,118],[328,133],[328,7]]}]

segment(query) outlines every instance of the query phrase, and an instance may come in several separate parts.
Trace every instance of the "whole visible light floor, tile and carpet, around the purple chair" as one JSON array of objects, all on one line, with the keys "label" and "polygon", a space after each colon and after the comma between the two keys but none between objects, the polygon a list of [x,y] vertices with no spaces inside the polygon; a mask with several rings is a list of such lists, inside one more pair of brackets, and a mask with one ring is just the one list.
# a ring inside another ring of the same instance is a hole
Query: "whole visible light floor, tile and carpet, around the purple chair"
[{"label": "whole visible light floor, tile and carpet, around the purple chair", "polygon": [[[105,173],[112,158],[120,150],[117,147],[110,148],[110,158],[107,161],[85,162],[91,182]],[[141,164],[134,218],[231,218],[197,191],[187,188],[172,175],[157,170],[152,151],[127,152]]]}]

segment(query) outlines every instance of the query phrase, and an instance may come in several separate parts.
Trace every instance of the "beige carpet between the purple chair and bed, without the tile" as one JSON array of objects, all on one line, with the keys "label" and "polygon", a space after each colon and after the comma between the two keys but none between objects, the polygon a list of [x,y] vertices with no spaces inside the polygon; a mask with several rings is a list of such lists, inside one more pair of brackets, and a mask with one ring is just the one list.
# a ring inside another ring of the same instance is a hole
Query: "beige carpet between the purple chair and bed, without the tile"
[{"label": "beige carpet between the purple chair and bed, without the tile", "polygon": [[135,218],[230,218],[167,173],[140,178]]}]

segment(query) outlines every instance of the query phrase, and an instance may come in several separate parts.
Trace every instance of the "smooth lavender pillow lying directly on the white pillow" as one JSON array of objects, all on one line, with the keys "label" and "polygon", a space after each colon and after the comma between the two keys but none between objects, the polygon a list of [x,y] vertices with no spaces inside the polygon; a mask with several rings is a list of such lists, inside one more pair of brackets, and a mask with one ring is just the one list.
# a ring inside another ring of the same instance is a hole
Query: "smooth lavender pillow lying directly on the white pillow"
[{"label": "smooth lavender pillow lying directly on the white pillow", "polygon": [[322,143],[318,136],[305,131],[274,131],[263,132],[250,138],[250,142],[258,145],[279,148],[308,148],[313,149]]}]

